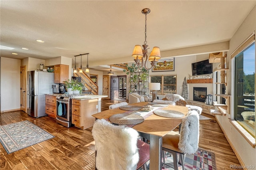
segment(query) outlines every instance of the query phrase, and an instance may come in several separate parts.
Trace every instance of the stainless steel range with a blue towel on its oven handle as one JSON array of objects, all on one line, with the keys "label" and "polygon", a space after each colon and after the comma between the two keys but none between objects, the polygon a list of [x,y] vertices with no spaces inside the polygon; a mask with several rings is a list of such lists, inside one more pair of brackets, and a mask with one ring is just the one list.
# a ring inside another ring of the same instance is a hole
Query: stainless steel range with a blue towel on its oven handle
[{"label": "stainless steel range with a blue towel on its oven handle", "polygon": [[71,102],[70,98],[72,97],[80,97],[84,96],[83,94],[80,95],[68,95],[63,94],[56,97],[57,102],[57,117],[56,122],[65,126],[71,127],[73,124],[71,123],[71,116],[72,116],[72,109],[71,109]]}]

